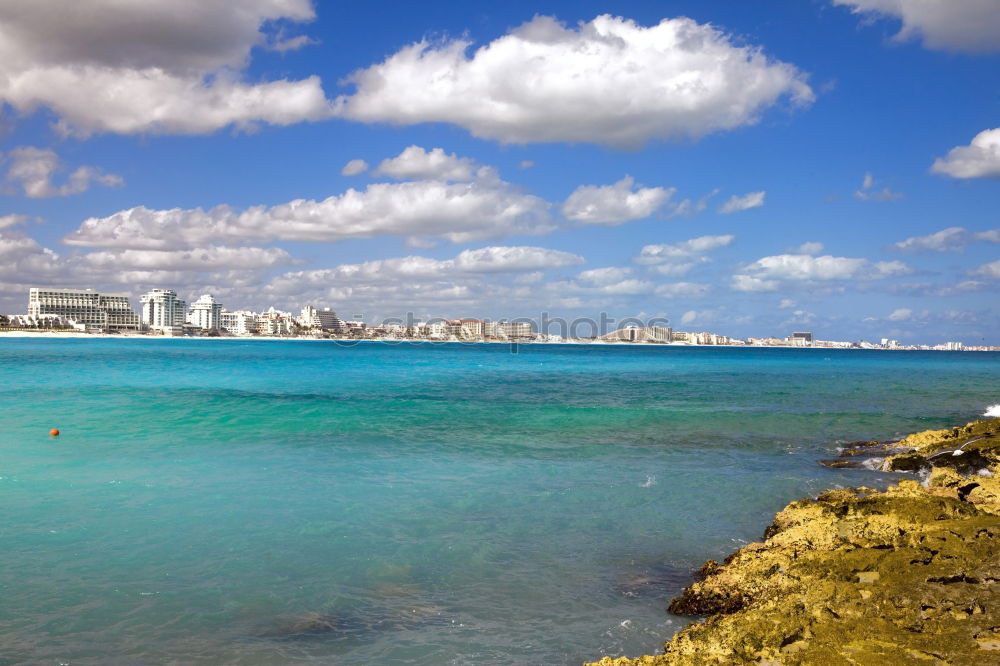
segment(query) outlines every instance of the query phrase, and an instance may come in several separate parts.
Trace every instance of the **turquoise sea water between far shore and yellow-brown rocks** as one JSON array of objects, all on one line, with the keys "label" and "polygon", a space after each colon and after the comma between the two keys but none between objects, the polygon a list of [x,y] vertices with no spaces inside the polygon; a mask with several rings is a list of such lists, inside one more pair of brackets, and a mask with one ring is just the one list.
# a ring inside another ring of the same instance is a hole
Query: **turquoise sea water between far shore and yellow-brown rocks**
[{"label": "turquoise sea water between far shore and yellow-brown rocks", "polygon": [[[516,353],[514,353],[516,351]],[[0,340],[0,664],[578,664],[1000,354]],[[50,428],[62,435],[50,437]]]}]

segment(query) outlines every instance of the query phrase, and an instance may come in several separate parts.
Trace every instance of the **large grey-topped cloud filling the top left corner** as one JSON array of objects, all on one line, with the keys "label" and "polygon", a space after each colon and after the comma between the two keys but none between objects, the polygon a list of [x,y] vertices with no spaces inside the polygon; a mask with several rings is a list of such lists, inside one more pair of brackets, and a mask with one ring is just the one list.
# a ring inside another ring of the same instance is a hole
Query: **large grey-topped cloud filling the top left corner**
[{"label": "large grey-topped cloud filling the top left corner", "polygon": [[243,80],[251,50],[288,50],[275,21],[314,18],[310,0],[5,0],[0,102],[47,107],[63,134],[202,134],[331,113],[320,80]]}]

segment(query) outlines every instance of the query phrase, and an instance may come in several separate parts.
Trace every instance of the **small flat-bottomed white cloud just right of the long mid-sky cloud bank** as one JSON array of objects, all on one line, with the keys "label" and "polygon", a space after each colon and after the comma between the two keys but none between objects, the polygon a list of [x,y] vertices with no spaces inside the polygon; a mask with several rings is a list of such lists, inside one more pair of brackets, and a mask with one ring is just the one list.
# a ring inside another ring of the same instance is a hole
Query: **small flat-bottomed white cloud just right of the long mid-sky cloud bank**
[{"label": "small flat-bottomed white cloud just right of the long mid-sky cloud bank", "polygon": [[631,176],[613,185],[581,185],[563,204],[563,215],[583,224],[616,225],[649,217],[660,210],[673,188],[638,187]]}]

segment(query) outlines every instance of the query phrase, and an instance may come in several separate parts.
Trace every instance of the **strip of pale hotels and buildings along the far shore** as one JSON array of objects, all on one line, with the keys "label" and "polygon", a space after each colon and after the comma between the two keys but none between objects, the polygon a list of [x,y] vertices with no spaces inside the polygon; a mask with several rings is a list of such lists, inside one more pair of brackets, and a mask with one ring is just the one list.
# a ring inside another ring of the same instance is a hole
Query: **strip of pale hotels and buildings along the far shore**
[{"label": "strip of pale hotels and buildings along the far shore", "polygon": [[[328,307],[302,307],[295,316],[290,311],[229,310],[211,294],[202,294],[190,304],[172,289],[157,287],[139,297],[139,311],[122,294],[99,293],[94,289],[39,288],[28,293],[27,314],[0,314],[0,333],[46,335],[73,331],[78,334],[166,335],[219,337],[309,337],[367,339],[374,341],[423,340],[436,342],[540,342],[540,343],[657,343],[699,346],[817,347],[840,349],[899,349],[942,351],[998,351],[1000,347],[949,340],[944,343],[900,343],[883,337],[877,343],[865,339],[833,340],[812,331],[792,331],[787,336],[768,334],[740,338],[710,331],[674,330],[666,318],[645,321],[623,320],[602,312],[598,319],[577,317],[566,320],[542,312],[538,317],[513,316],[501,319],[469,316],[418,318],[404,317],[365,321],[364,315],[343,320]],[[43,332],[44,331],[44,332]]]}]

